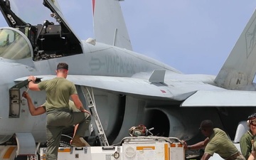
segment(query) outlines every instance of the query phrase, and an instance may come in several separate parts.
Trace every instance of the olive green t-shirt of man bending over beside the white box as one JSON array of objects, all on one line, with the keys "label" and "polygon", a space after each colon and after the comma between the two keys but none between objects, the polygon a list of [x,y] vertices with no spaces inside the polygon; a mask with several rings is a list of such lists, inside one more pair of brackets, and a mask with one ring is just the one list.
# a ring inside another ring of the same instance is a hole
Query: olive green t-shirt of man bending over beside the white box
[{"label": "olive green t-shirt of man bending over beside the white box", "polygon": [[238,149],[223,130],[215,128],[213,129],[213,134],[210,135],[205,153],[212,156],[216,153],[223,159],[228,159],[233,154],[238,153]]}]

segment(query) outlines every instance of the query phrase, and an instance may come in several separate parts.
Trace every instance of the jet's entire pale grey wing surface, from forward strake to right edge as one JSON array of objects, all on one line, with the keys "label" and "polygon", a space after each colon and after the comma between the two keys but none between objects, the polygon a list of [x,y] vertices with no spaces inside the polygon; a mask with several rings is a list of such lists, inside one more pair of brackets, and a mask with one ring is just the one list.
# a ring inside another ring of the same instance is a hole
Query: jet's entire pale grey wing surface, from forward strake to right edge
[{"label": "jet's entire pale grey wing surface, from forward strake to right edge", "polygon": [[[37,75],[41,80],[50,80],[55,75]],[[18,78],[15,81],[23,81]],[[153,97],[156,100],[183,101],[181,107],[255,107],[256,92],[225,90],[198,82],[152,83],[142,78],[124,78],[97,75],[68,75],[75,85],[95,87],[110,92],[137,97]]]}]

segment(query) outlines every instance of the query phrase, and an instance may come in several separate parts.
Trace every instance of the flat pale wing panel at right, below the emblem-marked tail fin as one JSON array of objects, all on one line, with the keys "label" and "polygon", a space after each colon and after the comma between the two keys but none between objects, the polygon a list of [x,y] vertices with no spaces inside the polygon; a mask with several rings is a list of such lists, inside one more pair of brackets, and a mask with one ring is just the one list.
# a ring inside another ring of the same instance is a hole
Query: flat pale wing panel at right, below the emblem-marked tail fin
[{"label": "flat pale wing panel at right, below the emblem-marked tail fin", "polygon": [[181,107],[256,107],[256,92],[239,90],[199,90]]}]

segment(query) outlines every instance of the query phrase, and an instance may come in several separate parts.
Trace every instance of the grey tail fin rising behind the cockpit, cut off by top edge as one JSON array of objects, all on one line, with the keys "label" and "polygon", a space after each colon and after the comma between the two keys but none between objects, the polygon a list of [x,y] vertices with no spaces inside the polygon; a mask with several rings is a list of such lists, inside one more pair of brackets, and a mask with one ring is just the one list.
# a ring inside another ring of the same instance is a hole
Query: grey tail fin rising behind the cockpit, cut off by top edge
[{"label": "grey tail fin rising behind the cockpit, cut off by top edge", "polygon": [[92,0],[97,42],[132,50],[119,0]]}]

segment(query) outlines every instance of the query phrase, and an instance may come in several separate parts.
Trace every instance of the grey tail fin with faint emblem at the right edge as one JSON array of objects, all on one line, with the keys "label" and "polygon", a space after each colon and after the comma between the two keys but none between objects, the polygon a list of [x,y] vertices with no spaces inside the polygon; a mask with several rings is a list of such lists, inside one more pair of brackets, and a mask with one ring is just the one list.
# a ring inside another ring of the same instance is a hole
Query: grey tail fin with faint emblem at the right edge
[{"label": "grey tail fin with faint emblem at the right edge", "polygon": [[256,11],[242,31],[240,38],[223,67],[215,78],[215,83],[226,89],[240,90],[252,84],[256,73]]}]

